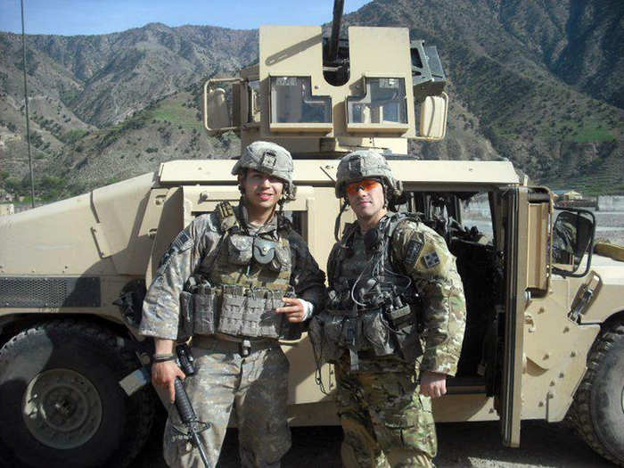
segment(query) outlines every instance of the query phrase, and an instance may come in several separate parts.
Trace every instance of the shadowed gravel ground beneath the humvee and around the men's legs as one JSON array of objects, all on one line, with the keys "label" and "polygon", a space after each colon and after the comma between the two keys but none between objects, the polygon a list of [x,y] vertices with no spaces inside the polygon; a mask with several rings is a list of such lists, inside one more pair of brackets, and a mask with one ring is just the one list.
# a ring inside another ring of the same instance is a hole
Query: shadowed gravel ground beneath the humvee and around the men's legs
[{"label": "shadowed gravel ground beneath the humvee and around the men's legs", "polygon": [[[165,468],[160,455],[164,421],[154,427],[143,453],[132,468]],[[338,468],[341,466],[340,427],[292,429],[292,448],[284,457],[283,468]],[[497,422],[438,424],[438,467],[529,468],[529,467],[608,467],[570,428],[562,423],[543,421],[522,423],[521,447],[507,448],[500,443]],[[227,432],[218,468],[239,466],[236,431]]]}]

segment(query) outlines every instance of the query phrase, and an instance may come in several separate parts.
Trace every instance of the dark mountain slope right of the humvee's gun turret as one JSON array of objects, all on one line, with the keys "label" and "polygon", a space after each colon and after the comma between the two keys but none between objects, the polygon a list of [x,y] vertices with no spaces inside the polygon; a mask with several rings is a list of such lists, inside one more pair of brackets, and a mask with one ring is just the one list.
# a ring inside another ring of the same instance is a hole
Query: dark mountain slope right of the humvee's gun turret
[{"label": "dark mountain slope right of the humvee's gun turret", "polygon": [[425,156],[483,159],[457,131],[475,128],[478,141],[540,183],[624,192],[624,5],[595,4],[378,0],[346,26],[405,26],[438,46],[464,109],[451,109],[445,142],[421,145]]}]

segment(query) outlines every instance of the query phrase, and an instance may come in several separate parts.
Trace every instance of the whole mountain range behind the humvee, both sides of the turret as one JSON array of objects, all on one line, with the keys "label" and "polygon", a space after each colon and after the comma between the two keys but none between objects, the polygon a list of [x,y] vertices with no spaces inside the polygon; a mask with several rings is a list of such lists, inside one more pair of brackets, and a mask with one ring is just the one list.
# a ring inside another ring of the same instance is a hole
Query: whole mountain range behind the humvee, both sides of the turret
[{"label": "whole mountain range behind the humvee, both sides of the turret", "polygon": [[[539,183],[624,192],[624,5],[603,0],[375,0],[344,25],[405,26],[438,46],[447,138],[424,159],[507,158]],[[257,61],[256,30],[144,28],[27,37],[31,143],[48,199],[163,160],[231,157],[201,129],[201,84]],[[24,192],[21,37],[0,33],[0,186]],[[69,182],[71,181],[71,182]]]}]

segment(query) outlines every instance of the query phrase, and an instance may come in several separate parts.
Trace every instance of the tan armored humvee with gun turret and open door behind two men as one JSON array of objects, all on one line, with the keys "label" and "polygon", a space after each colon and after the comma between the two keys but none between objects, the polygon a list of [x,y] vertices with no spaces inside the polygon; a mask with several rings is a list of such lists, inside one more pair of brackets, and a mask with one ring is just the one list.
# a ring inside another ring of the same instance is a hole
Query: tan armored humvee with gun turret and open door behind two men
[{"label": "tan armored humvee with gun turret and open door behind two men", "polygon": [[[291,151],[298,197],[284,209],[322,266],[340,209],[337,159],[382,152],[403,182],[401,209],[445,237],[464,281],[464,346],[435,419],[499,420],[503,444],[517,447],[522,419],[567,417],[624,465],[624,265],[594,252],[591,212],[556,215],[552,193],[509,161],[408,155],[408,139],[445,136],[437,50],[401,28],[341,38],[336,4],[330,37],[261,27],[259,62],[206,82],[207,131]],[[0,435],[19,463],[122,466],[144,445],[158,400],[149,385],[128,395],[119,382],[149,364],[152,343],[137,334],[145,287],[193,217],[238,200],[233,165],[165,162],[0,218]],[[305,336],[283,349],[291,424],[338,423],[332,366],[316,374]]]}]

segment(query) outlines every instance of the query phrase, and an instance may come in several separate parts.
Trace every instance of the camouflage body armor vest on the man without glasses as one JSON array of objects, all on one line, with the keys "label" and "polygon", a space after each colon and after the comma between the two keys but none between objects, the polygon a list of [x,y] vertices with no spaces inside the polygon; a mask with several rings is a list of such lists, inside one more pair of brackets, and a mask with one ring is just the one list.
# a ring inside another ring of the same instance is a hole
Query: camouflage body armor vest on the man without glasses
[{"label": "camouflage body armor vest on the man without glasses", "polygon": [[185,288],[193,302],[194,333],[298,340],[300,324],[275,313],[284,296],[294,296],[287,221],[250,234],[227,202],[219,204],[217,218],[223,232],[218,245],[202,259],[201,279]]}]

